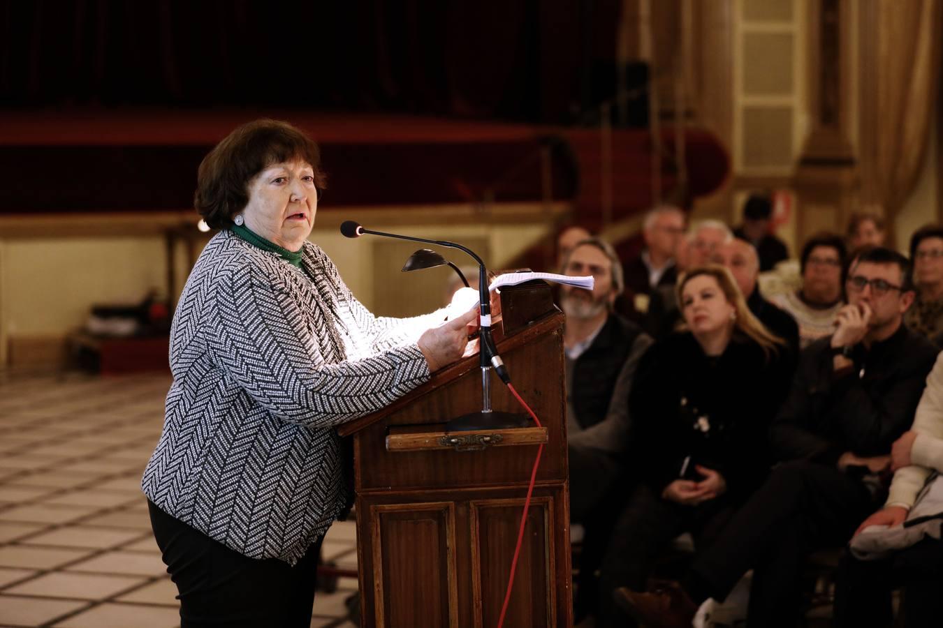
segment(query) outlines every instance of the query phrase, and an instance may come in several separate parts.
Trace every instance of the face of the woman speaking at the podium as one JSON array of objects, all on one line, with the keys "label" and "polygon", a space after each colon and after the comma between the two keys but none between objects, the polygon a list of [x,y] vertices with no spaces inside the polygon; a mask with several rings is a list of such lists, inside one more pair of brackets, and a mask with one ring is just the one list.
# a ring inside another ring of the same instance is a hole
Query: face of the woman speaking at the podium
[{"label": "face of the woman speaking at the podium", "polygon": [[300,250],[314,227],[318,190],[304,161],[273,164],[249,182],[245,226],[288,250]]}]

